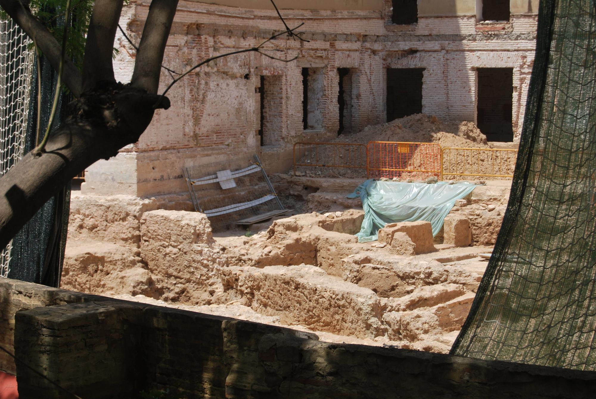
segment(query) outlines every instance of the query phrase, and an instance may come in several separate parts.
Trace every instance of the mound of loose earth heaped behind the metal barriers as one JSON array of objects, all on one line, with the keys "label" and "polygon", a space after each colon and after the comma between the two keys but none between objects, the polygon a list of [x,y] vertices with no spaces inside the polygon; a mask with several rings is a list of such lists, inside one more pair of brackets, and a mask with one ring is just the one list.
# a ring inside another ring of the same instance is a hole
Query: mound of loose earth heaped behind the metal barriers
[{"label": "mound of loose earth heaped behind the metal barriers", "polygon": [[[395,119],[387,123],[376,124],[365,127],[357,133],[344,133],[332,142],[335,144],[360,144],[367,145],[371,141],[376,142],[412,142],[412,143],[434,143],[441,148],[475,148],[475,149],[514,149],[511,144],[489,143],[486,136],[480,131],[475,123],[470,121],[443,121],[433,115],[414,114],[401,119]],[[495,146],[496,145],[496,146]],[[303,165],[316,164],[342,164],[358,166],[359,169],[344,167],[313,167],[297,166],[296,174],[308,177],[352,177],[364,179],[367,176],[365,167],[367,157],[362,148],[360,151],[345,146],[317,146],[303,154],[300,163]],[[377,147],[378,151],[380,147]],[[427,164],[429,150],[415,150],[411,154],[406,169],[417,170],[430,166]],[[458,176],[452,173],[479,173],[484,175],[513,174],[516,163],[515,152],[491,152],[491,151],[448,151],[443,154],[443,170],[449,173],[448,179],[467,180],[473,176]],[[390,155],[389,155],[390,156]],[[433,156],[440,156],[435,154]],[[373,157],[374,158],[374,157]],[[373,163],[374,164],[374,161]],[[433,163],[431,163],[433,165]],[[429,172],[402,172],[401,180],[418,180],[429,177]],[[294,169],[290,171],[294,174]],[[492,177],[492,179],[504,179],[507,177]]]}]

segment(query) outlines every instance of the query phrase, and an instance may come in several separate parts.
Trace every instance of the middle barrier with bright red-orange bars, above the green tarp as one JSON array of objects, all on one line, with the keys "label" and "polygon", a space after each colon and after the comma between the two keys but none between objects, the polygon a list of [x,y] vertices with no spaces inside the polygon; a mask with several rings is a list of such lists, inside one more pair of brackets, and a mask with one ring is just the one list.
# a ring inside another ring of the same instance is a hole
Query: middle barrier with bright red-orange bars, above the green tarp
[{"label": "middle barrier with bright red-orange bars, above the green tarp", "polygon": [[367,153],[369,179],[441,176],[441,146],[436,143],[371,141]]}]

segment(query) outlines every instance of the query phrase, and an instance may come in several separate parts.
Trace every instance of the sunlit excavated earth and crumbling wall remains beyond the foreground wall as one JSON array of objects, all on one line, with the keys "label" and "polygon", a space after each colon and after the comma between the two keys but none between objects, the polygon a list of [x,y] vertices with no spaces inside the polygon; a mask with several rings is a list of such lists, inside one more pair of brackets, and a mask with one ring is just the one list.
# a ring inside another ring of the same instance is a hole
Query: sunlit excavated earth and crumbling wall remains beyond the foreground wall
[{"label": "sunlit excavated earth and crumbling wall remains beyond the foreground wall", "polygon": [[[460,331],[507,205],[508,182],[478,186],[451,214],[472,244],[434,238],[402,255],[358,243],[361,180],[272,176],[296,214],[212,233],[184,196],[72,197],[61,287],[314,332],[331,342],[446,353]],[[295,206],[294,206],[295,205]],[[432,245],[431,245],[432,247]]]}]

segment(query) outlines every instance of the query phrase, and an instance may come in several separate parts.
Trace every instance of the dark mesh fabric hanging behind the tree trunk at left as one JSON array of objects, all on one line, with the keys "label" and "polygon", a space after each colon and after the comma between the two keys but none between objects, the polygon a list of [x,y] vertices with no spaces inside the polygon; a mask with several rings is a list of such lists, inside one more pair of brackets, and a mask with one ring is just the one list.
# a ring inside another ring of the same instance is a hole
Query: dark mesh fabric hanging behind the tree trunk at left
[{"label": "dark mesh fabric hanging behind the tree trunk at left", "polygon": [[[41,62],[42,77],[42,110],[41,132],[43,135],[48,126],[49,114],[54,101],[54,90],[58,73],[43,57]],[[37,63],[34,64],[32,85],[30,90],[29,120],[25,152],[35,147],[37,119]],[[58,109],[52,132],[60,126],[65,95],[58,102]],[[41,140],[41,138],[40,138]],[[66,233],[70,209],[70,185],[57,187],[56,194],[33,216],[13,238],[13,249],[10,253],[8,277],[27,282],[57,287],[60,284]]]}]

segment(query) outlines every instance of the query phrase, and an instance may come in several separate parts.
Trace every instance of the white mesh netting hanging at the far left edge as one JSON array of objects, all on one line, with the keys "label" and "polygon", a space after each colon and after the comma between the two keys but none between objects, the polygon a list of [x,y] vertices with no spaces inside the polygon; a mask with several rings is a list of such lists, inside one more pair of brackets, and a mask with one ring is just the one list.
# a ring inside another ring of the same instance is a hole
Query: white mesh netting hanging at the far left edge
[{"label": "white mesh netting hanging at the far left edge", "polygon": [[[29,38],[10,18],[0,17],[0,176],[23,157],[32,66]],[[0,254],[0,276],[8,275],[10,248]]]}]

